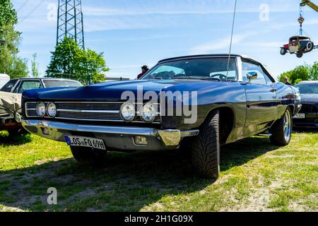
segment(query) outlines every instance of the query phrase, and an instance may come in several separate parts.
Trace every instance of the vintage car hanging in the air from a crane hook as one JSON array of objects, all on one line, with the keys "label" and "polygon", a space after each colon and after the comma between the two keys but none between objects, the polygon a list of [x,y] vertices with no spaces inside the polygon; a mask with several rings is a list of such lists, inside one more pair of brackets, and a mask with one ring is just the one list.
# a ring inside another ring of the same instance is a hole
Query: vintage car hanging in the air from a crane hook
[{"label": "vintage car hanging in the air from a crane hook", "polygon": [[286,53],[296,54],[297,57],[301,58],[305,53],[312,52],[312,49],[317,48],[314,46],[314,42],[310,40],[310,37],[306,36],[293,36],[290,37],[289,43],[284,44],[281,47],[281,54],[285,55]]}]

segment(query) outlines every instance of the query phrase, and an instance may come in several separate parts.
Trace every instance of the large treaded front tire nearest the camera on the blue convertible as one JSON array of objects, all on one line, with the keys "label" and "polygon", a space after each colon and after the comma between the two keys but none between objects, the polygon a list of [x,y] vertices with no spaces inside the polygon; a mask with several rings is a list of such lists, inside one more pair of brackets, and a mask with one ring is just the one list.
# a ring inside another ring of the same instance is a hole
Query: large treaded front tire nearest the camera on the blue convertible
[{"label": "large treaded front tire nearest the camera on the blue convertible", "polygon": [[214,110],[192,142],[192,165],[203,177],[218,179],[220,174],[219,111]]}]

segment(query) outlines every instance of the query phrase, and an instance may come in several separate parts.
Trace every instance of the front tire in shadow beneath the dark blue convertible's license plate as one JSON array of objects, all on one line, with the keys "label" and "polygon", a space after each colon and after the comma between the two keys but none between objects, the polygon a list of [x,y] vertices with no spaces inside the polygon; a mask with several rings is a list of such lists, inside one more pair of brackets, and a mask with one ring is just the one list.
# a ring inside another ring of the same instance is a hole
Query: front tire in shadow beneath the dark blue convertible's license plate
[{"label": "front tire in shadow beneath the dark blue convertible's license plate", "polygon": [[107,151],[94,148],[71,147],[73,157],[83,164],[105,165],[107,162]]}]

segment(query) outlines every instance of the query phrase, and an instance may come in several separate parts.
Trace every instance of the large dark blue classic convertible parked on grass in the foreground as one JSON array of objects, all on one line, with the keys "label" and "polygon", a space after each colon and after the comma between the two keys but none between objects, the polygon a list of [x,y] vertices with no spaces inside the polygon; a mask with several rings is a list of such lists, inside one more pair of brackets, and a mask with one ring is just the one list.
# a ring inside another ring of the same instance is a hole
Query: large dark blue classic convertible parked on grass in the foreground
[{"label": "large dark blue classic convertible parked on grass in the foreground", "polygon": [[266,131],[288,145],[301,105],[258,61],[215,54],[159,61],[138,81],[26,91],[23,107],[25,129],[68,143],[78,161],[188,148],[194,170],[217,178],[221,145]]}]

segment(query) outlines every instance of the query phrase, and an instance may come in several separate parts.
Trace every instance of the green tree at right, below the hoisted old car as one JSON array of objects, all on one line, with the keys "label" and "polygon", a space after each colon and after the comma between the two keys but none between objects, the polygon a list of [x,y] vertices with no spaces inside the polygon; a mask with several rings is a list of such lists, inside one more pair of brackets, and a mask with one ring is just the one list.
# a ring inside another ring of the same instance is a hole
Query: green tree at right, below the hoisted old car
[{"label": "green tree at right, below the hoisted old car", "polygon": [[310,73],[309,73],[310,66],[303,65],[298,66],[292,71],[287,71],[281,74],[278,77],[279,81],[284,82],[284,78],[287,77],[293,85],[300,83],[301,81],[308,81],[310,80]]}]

